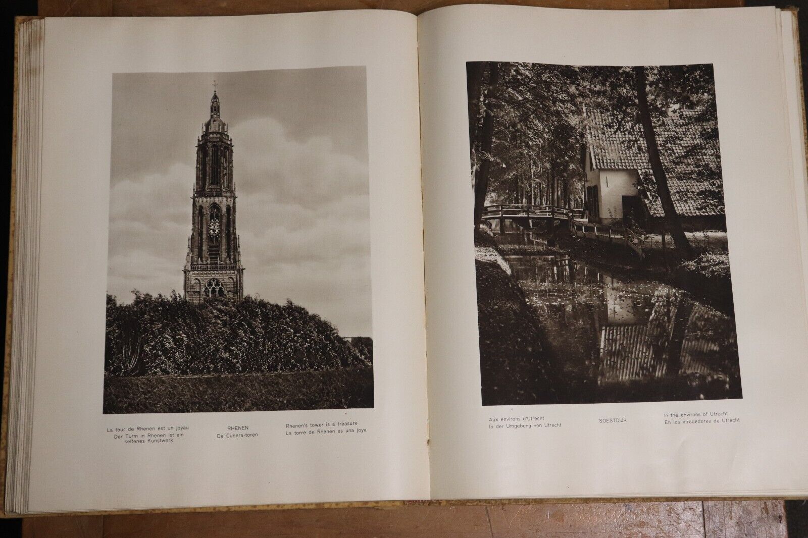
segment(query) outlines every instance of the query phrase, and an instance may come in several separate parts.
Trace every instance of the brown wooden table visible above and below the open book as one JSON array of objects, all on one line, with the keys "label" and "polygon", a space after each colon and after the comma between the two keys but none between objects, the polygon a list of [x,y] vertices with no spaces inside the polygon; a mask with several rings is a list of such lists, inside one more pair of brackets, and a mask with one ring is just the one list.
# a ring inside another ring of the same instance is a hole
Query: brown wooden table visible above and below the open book
[{"label": "brown wooden table visible above and below the open book", "polygon": [[[251,15],[331,9],[421,13],[484,0],[39,0],[40,15]],[[743,0],[499,0],[531,6],[679,9]],[[782,501],[591,502],[476,506],[410,505],[30,518],[23,536],[187,538],[189,536],[786,536]]]}]

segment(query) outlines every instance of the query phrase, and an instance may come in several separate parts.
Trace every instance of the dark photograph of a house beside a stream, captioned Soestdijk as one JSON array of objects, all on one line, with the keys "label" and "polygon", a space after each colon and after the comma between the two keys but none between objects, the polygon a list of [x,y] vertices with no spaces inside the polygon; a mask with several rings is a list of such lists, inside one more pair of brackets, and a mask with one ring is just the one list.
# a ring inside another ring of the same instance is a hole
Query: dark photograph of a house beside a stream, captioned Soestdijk
[{"label": "dark photograph of a house beside a stream, captioned Soestdijk", "polygon": [[482,405],[741,398],[713,66],[466,68]]}]

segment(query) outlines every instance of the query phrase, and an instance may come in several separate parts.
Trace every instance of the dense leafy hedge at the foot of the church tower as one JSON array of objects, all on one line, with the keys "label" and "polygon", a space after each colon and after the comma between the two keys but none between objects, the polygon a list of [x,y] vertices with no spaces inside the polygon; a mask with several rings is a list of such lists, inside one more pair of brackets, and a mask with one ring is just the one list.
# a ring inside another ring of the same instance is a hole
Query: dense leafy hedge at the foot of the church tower
[{"label": "dense leafy hedge at the foot of the church tower", "polygon": [[[287,301],[206,301],[107,295],[107,376],[301,372],[372,365],[372,342],[351,346],[329,322]],[[370,338],[368,338],[370,341]]]}]

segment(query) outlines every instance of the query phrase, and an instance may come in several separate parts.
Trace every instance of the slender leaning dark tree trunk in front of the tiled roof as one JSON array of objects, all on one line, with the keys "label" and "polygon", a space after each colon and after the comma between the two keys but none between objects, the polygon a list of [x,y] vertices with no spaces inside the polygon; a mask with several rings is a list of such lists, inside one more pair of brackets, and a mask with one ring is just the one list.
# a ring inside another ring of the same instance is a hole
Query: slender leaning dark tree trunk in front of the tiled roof
[{"label": "slender leaning dark tree trunk in front of the tiled roof", "polygon": [[651,122],[650,108],[648,107],[648,95],[646,93],[646,68],[642,65],[634,67],[634,74],[637,82],[637,103],[640,110],[640,121],[642,123],[642,135],[645,138],[648,148],[648,160],[651,164],[651,171],[654,173],[654,182],[659,195],[659,203],[662,204],[665,213],[667,229],[671,233],[673,244],[684,254],[685,258],[693,258],[693,252],[688,237],[684,235],[682,223],[671,198],[671,189],[667,185],[667,175],[659,158],[659,146],[657,145],[654,124]]}]

